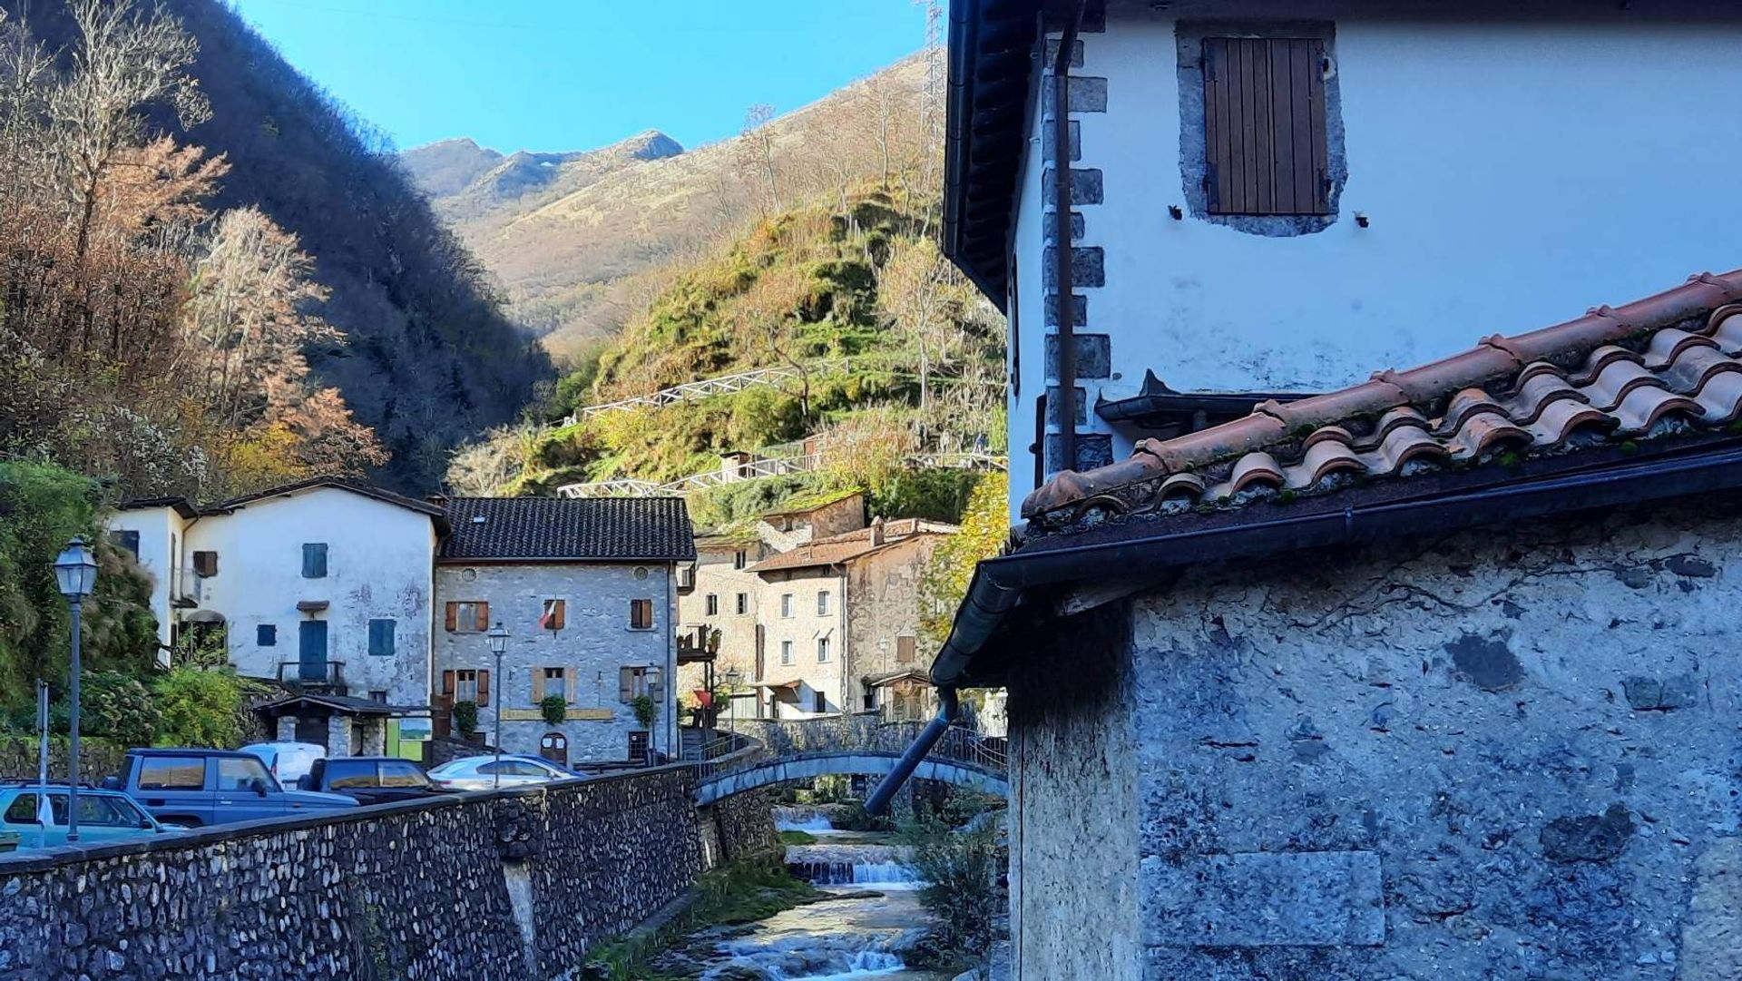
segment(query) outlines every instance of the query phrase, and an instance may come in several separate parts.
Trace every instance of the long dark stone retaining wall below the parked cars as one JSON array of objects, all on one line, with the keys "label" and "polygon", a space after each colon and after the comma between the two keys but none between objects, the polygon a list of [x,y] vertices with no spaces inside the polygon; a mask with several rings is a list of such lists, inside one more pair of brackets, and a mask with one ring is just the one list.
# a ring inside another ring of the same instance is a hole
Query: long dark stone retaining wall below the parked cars
[{"label": "long dark stone retaining wall below the parked cars", "polygon": [[0,859],[0,981],[557,978],[693,883],[692,795],[660,767]]}]

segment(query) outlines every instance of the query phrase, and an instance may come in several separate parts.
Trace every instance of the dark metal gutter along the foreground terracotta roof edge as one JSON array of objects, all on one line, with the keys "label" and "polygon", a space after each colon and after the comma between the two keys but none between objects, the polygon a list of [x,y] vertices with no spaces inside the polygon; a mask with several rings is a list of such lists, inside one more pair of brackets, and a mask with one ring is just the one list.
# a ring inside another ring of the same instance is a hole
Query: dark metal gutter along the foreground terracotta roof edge
[{"label": "dark metal gutter along the foreground terracotta roof edge", "polygon": [[[1322,545],[1373,542],[1437,533],[1498,521],[1643,504],[1691,493],[1742,488],[1742,441],[1636,460],[1625,465],[1563,472],[1472,491],[1383,504],[1352,504],[1341,511],[1301,514],[1204,528],[1153,538],[1097,542],[1016,552],[986,559],[974,570],[949,638],[932,662],[932,683],[958,688],[976,683],[970,666],[996,634],[1024,592],[1045,585],[1148,575],[1205,561],[1270,556]],[[1141,570],[1134,572],[1134,570]]]}]

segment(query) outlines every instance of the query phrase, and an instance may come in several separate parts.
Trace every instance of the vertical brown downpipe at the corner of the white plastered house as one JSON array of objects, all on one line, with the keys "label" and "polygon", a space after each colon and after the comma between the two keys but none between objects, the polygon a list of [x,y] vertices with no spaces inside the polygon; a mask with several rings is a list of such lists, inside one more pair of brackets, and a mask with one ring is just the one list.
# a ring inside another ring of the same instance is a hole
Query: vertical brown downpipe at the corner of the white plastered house
[{"label": "vertical brown downpipe at the corner of the white plastered house", "polygon": [[[1077,469],[1077,291],[1071,282],[1071,52],[1089,0],[1077,0],[1052,59],[1052,258],[1059,307],[1059,469]],[[1045,51],[1045,31],[1042,31]],[[1045,458],[1045,434],[1040,437]]]}]

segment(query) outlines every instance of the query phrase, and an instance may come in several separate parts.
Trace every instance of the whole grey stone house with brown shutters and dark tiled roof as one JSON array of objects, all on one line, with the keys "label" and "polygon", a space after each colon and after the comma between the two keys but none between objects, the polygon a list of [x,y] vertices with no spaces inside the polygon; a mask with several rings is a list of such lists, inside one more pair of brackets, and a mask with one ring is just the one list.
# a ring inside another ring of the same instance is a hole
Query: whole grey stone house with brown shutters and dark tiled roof
[{"label": "whole grey stone house with brown shutters and dark tiled roof", "polygon": [[[678,756],[678,568],[697,558],[683,498],[451,498],[436,558],[437,706],[559,763]],[[500,624],[498,662],[486,631]],[[658,704],[653,728],[632,702]],[[561,697],[564,720],[542,702]]]}]

